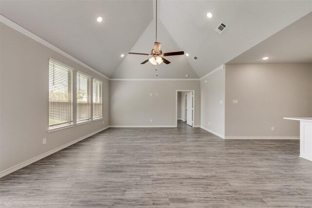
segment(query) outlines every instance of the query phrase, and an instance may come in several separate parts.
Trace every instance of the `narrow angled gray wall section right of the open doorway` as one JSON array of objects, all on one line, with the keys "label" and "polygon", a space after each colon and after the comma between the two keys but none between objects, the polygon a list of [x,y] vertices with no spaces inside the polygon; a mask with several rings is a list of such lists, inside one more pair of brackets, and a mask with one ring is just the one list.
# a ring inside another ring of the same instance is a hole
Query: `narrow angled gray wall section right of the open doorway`
[{"label": "narrow angled gray wall section right of the open doorway", "polygon": [[[201,126],[206,130],[216,133],[218,136],[224,137],[225,70],[218,70],[201,79],[200,88]],[[223,101],[223,103],[220,103],[220,101]]]}]

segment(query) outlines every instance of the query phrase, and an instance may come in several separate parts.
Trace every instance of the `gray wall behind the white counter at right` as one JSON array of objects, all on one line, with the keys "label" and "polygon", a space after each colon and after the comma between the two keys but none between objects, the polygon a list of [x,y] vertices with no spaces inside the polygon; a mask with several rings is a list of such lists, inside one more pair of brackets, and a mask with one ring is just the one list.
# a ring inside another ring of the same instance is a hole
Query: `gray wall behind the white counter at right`
[{"label": "gray wall behind the white counter at right", "polygon": [[312,117],[312,64],[226,65],[225,100],[226,137],[299,136],[283,117]]}]

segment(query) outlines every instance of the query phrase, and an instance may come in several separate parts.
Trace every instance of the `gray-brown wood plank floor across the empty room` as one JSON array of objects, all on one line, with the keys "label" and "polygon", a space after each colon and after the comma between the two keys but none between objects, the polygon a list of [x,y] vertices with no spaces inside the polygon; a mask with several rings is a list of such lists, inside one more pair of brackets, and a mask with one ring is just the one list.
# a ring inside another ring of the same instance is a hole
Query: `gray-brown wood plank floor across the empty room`
[{"label": "gray-brown wood plank floor across the empty room", "polygon": [[312,207],[299,140],[110,128],[1,178],[1,208]]}]

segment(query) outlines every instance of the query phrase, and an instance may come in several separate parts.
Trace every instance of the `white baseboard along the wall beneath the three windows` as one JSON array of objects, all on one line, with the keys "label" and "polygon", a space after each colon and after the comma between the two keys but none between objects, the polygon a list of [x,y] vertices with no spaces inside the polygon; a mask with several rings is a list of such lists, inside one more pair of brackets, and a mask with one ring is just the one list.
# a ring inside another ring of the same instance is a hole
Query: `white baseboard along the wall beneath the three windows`
[{"label": "white baseboard along the wall beneath the three windows", "polygon": [[24,168],[24,167],[26,167],[26,166],[28,166],[28,165],[34,163],[34,162],[37,162],[38,160],[41,160],[42,158],[44,158],[44,157],[46,157],[46,156],[49,156],[50,154],[53,154],[53,153],[55,153],[55,152],[57,152],[57,151],[60,151],[60,150],[62,150],[62,149],[64,149],[64,148],[66,148],[66,147],[69,147],[69,146],[71,146],[71,145],[73,145],[73,144],[75,144],[75,143],[77,143],[77,142],[79,142],[79,141],[81,141],[81,140],[83,140],[83,139],[85,139],[85,138],[88,138],[89,136],[92,136],[92,135],[94,135],[94,134],[96,134],[96,133],[98,133],[98,132],[101,132],[101,131],[103,131],[103,130],[105,130],[105,129],[108,129],[108,128],[109,128],[109,126],[104,127],[104,128],[102,128],[102,129],[99,129],[98,131],[89,133],[89,134],[87,134],[87,135],[85,135],[85,136],[82,136],[82,137],[80,137],[80,138],[78,138],[78,139],[76,139],[76,140],[74,140],[74,141],[71,141],[71,142],[69,142],[69,143],[67,143],[67,144],[64,144],[64,145],[62,145],[62,146],[60,146],[60,147],[58,147],[58,148],[56,148],[56,149],[47,151],[47,152],[45,152],[45,153],[43,153],[43,154],[40,154],[39,156],[36,156],[36,157],[34,157],[34,158],[32,158],[32,159],[29,159],[29,160],[27,160],[27,161],[25,161],[25,162],[22,162],[22,163],[20,163],[20,164],[18,164],[18,165],[16,165],[16,166],[13,166],[13,167],[11,167],[11,168],[8,168],[8,169],[6,169],[6,170],[3,170],[3,171],[0,172],[0,178],[2,178],[3,176],[5,176],[5,175],[7,175],[7,174],[10,174],[11,172],[14,172],[14,171],[16,171],[16,170],[20,170],[21,168]]}]

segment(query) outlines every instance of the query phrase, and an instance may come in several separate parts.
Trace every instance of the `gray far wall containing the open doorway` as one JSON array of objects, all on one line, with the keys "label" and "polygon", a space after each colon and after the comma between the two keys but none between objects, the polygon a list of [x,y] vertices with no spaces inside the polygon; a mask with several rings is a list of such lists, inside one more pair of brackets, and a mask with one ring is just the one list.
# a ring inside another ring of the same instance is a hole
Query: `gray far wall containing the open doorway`
[{"label": "gray far wall containing the open doorway", "polygon": [[176,90],[195,90],[194,125],[200,125],[200,82],[197,80],[111,80],[110,125],[176,125]]}]

